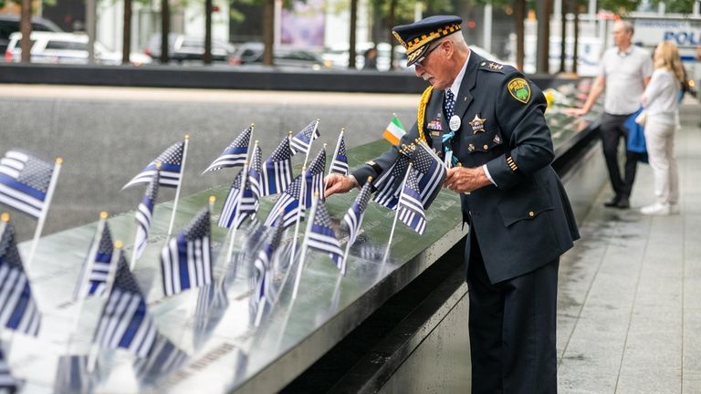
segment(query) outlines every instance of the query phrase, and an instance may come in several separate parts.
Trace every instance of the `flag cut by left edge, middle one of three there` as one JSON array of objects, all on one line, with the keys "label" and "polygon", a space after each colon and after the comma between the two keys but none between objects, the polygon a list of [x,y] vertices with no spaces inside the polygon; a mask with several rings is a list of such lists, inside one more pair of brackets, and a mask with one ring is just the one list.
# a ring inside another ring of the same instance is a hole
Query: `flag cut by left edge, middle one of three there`
[{"label": "flag cut by left edge, middle one of three there", "polygon": [[41,315],[32,296],[22,259],[17,251],[15,227],[0,222],[0,327],[36,337]]}]

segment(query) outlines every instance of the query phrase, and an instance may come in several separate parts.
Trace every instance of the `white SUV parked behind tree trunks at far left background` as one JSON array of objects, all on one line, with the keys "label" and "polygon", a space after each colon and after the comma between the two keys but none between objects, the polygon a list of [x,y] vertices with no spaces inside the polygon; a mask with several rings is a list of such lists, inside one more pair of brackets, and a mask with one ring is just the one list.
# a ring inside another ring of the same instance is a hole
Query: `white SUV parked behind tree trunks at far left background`
[{"label": "white SUV parked behind tree trunks at far left background", "polygon": [[[75,33],[32,32],[32,63],[88,64],[88,36]],[[20,41],[22,33],[10,35],[5,50],[5,61],[19,62],[22,58]],[[141,53],[131,53],[131,64],[151,63],[151,57]],[[95,42],[95,63],[100,65],[120,65],[121,53],[112,52],[99,42]]]}]

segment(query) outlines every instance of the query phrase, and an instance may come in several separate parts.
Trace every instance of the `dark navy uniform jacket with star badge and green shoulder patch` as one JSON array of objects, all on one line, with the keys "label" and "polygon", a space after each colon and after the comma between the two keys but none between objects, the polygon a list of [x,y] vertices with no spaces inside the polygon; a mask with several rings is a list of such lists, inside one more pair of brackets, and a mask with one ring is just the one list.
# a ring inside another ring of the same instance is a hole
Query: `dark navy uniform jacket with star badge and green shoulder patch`
[{"label": "dark navy uniform jacket with star badge and green shoulder patch", "polygon": [[[435,150],[441,150],[440,136],[450,131],[444,92],[431,92],[422,122],[422,135]],[[476,235],[492,283],[549,264],[580,237],[567,194],[550,166],[554,150],[543,116],[546,107],[539,88],[516,68],[470,54],[455,97],[455,115],[462,121],[452,149],[465,167],[487,164],[496,183],[460,194],[463,220]],[[419,137],[418,126],[402,143]],[[370,175],[377,179],[398,154],[395,148],[387,150],[353,175],[361,183]]]}]

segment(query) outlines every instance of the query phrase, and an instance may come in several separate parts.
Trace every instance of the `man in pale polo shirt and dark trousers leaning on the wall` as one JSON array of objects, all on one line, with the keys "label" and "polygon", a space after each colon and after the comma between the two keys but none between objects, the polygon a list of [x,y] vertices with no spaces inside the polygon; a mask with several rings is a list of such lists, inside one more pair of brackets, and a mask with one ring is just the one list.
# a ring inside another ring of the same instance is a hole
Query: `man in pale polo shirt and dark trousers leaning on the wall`
[{"label": "man in pale polo shirt and dark trousers leaning on the wall", "polygon": [[586,114],[605,89],[600,129],[603,156],[615,196],[604,205],[621,209],[630,207],[629,197],[640,155],[626,150],[622,177],[618,163],[618,145],[623,138],[625,147],[628,137],[623,122],[640,108],[643,90],[653,74],[652,57],[643,48],[633,46],[632,39],[633,24],[629,21],[618,21],[613,25],[614,47],[604,52],[599,76],[594,80],[584,107],[570,111],[577,116]]}]

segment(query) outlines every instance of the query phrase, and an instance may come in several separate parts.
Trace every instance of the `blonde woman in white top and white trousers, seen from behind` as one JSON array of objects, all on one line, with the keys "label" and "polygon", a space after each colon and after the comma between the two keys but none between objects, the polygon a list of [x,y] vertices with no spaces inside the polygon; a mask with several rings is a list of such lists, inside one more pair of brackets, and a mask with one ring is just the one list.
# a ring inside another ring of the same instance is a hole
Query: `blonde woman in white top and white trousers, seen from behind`
[{"label": "blonde woman in white top and white trousers, seen from behind", "polygon": [[653,78],[643,93],[647,113],[645,143],[654,173],[656,202],[641,209],[643,214],[679,213],[679,176],[676,169],[675,130],[684,69],[679,50],[669,41],[654,49]]}]

